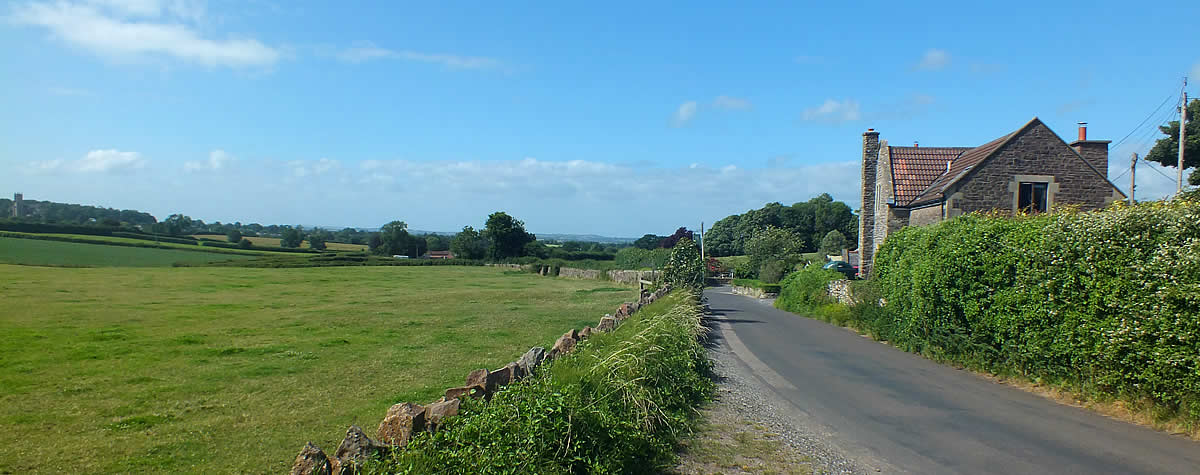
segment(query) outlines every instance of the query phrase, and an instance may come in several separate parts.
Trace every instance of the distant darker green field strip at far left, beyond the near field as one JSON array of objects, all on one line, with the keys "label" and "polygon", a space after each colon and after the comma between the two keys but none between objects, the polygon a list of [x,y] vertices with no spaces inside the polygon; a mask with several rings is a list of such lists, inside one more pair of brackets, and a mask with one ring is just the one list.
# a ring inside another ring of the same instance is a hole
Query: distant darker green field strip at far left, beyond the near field
[{"label": "distant darker green field strip at far left, beyond the near field", "polygon": [[0,237],[0,264],[156,267],[174,263],[202,264],[251,257],[253,255]]}]

